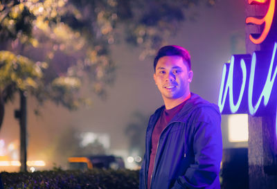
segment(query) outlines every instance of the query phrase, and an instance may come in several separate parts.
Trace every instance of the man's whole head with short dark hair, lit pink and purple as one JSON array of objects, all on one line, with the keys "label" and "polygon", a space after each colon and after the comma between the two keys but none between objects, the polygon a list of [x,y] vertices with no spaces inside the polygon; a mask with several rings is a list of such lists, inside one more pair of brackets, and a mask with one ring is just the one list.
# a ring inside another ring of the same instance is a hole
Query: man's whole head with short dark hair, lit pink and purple
[{"label": "man's whole head with short dark hair, lit pink and purple", "polygon": [[190,55],[181,46],[162,47],[154,60],[154,81],[157,84],[166,109],[184,102],[190,95]]}]

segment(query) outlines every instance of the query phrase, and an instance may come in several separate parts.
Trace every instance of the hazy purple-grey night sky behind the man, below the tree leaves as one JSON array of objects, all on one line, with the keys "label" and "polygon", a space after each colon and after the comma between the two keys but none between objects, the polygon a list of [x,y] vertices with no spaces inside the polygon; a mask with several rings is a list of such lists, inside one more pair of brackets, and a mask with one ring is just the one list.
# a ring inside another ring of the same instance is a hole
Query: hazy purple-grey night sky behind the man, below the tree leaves
[{"label": "hazy purple-grey night sky behind the man, below the tree leaves", "polygon": [[[181,24],[175,37],[168,44],[184,46],[191,55],[194,71],[191,91],[217,104],[222,66],[232,53],[244,53],[244,1],[218,0],[213,8],[197,7],[196,21]],[[118,66],[114,85],[107,89],[107,99],[94,94],[93,107],[68,111],[48,102],[41,109],[41,117],[33,115],[35,103],[28,99],[28,148],[29,157],[40,158],[51,148],[66,127],[79,131],[108,133],[111,148],[125,150],[128,146],[124,129],[132,120],[134,111],[150,116],[163,104],[161,95],[152,79],[152,58],[139,60],[139,48],[119,44],[112,46],[112,57]],[[18,140],[19,123],[13,111],[19,101],[6,107],[6,116],[0,138],[7,143]]]}]

